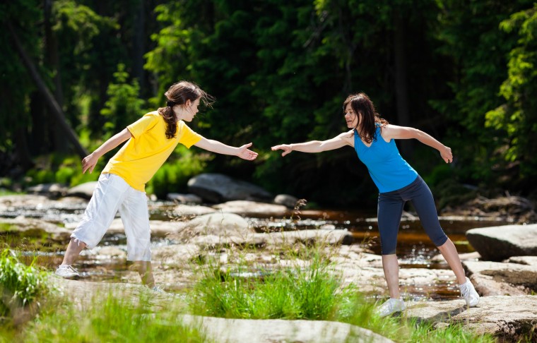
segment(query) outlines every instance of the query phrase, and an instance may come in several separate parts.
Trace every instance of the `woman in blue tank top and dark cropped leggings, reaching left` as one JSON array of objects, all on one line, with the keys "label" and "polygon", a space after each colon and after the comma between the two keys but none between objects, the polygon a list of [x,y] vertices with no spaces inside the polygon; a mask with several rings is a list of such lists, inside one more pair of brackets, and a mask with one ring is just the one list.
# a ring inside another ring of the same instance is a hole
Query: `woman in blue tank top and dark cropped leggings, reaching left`
[{"label": "woman in blue tank top and dark cropped leggings, reaching left", "polygon": [[425,232],[452,268],[466,306],[477,306],[479,295],[464,274],[453,242],[440,227],[432,193],[418,173],[403,160],[395,140],[415,138],[438,150],[446,163],[453,160],[452,150],[416,128],[389,124],[379,117],[372,101],[364,93],[349,95],[343,103],[343,111],[350,131],[329,140],[276,145],[272,150],[283,150],[282,156],[285,156],[293,151],[323,152],[350,145],[367,167],[372,180],[379,188],[377,217],[382,267],[390,295],[390,299],[379,306],[377,313],[384,317],[406,309],[399,294],[396,243],[403,207],[409,200],[418,212]]}]

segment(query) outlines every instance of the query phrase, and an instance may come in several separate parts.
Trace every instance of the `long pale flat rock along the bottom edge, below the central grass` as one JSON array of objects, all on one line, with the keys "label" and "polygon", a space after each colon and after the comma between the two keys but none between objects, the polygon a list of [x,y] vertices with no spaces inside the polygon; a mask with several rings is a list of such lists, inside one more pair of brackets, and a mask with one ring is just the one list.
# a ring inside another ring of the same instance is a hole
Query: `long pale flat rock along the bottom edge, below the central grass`
[{"label": "long pale flat rock along the bottom edge, below the central grass", "polygon": [[225,319],[183,315],[187,325],[203,327],[209,339],[218,342],[393,342],[355,325],[326,320]]}]

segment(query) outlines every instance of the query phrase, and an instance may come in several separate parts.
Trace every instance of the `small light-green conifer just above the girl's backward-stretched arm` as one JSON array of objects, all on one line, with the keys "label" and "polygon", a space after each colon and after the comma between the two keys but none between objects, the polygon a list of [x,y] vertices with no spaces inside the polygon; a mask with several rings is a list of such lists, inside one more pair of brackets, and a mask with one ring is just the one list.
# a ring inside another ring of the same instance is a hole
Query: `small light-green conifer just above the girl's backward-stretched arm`
[{"label": "small light-green conifer just above the girl's backward-stretched arm", "polygon": [[129,73],[125,71],[124,64],[117,65],[114,73],[114,83],[108,85],[108,100],[105,108],[101,109],[102,116],[105,116],[105,138],[112,137],[115,133],[122,131],[126,126],[136,121],[143,112],[144,101],[138,99],[140,87],[137,80],[128,83]]}]

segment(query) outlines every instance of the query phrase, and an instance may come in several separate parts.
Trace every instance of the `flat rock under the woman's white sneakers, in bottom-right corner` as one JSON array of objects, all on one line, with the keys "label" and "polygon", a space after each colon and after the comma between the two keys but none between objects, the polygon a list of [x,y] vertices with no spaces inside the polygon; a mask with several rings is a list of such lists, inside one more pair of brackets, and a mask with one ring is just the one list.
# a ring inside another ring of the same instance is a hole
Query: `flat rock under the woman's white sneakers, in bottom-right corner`
[{"label": "flat rock under the woman's white sneakers, in bottom-right corner", "polygon": [[459,323],[502,342],[526,342],[537,330],[537,296],[482,296],[475,308],[466,308],[464,300],[410,302],[405,315],[430,323]]}]

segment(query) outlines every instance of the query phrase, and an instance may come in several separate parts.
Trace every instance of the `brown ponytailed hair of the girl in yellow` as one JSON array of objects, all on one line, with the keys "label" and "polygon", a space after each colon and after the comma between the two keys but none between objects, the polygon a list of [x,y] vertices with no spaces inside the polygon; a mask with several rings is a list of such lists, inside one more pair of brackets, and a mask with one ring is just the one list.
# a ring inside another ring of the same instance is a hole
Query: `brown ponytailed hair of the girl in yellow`
[{"label": "brown ponytailed hair of the girl in yellow", "polygon": [[177,116],[175,116],[172,109],[175,105],[184,105],[187,103],[187,100],[194,102],[200,99],[204,105],[211,107],[215,101],[214,97],[208,95],[198,85],[189,81],[174,83],[164,95],[167,99],[166,107],[160,107],[158,114],[163,116],[166,122],[166,138],[168,139],[175,138],[175,133],[177,133]]}]

